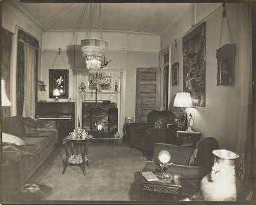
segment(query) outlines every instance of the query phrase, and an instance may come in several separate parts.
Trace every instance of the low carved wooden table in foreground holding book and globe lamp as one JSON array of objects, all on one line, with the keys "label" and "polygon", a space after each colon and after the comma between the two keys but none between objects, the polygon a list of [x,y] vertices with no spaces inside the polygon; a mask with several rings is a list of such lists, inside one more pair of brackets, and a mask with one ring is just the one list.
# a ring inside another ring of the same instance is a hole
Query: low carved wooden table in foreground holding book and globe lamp
[{"label": "low carved wooden table in foreground holding book and globe lamp", "polygon": [[[141,200],[178,200],[181,197],[180,175],[175,175],[174,180],[159,179],[147,181],[141,175]],[[173,178],[174,175],[171,176]]]}]

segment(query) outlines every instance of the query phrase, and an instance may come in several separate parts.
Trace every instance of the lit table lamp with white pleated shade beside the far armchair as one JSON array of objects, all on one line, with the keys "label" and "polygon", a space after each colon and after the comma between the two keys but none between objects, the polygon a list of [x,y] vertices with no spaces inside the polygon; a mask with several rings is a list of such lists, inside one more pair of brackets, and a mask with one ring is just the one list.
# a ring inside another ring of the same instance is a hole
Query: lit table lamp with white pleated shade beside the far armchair
[{"label": "lit table lamp with white pleated shade beside the far armchair", "polygon": [[190,108],[193,106],[192,98],[190,93],[188,92],[178,92],[176,93],[173,106],[180,108],[180,117],[179,117],[179,122],[178,126],[182,130],[187,130],[188,128],[188,113],[186,112],[186,108]]}]

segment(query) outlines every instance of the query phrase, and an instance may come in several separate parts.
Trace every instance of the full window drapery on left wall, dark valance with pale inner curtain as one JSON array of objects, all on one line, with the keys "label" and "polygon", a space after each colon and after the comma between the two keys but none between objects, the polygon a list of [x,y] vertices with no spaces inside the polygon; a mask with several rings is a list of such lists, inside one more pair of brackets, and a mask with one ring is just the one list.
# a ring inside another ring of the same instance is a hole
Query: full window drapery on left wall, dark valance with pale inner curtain
[{"label": "full window drapery on left wall, dark valance with pale inner curtain", "polygon": [[[17,115],[34,117],[37,102],[38,40],[18,31]],[[29,73],[29,75],[27,75]]]}]

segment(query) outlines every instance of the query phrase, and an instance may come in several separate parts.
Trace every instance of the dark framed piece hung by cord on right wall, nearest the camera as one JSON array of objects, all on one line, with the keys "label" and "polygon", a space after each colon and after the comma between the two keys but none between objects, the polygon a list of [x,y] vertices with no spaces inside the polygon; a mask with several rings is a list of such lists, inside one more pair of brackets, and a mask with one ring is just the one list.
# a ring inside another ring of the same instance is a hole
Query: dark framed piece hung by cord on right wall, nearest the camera
[{"label": "dark framed piece hung by cord on right wall, nearest the camera", "polygon": [[235,54],[235,44],[225,44],[217,50],[217,85],[233,85]]}]

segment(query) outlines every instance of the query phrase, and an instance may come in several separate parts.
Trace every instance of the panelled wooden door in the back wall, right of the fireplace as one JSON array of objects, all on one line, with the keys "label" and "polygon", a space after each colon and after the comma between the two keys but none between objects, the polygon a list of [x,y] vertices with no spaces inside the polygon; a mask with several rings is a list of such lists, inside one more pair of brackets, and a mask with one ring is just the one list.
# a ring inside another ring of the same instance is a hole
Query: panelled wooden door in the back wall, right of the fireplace
[{"label": "panelled wooden door in the back wall, right of the fireplace", "polygon": [[160,110],[160,68],[137,68],[136,122],[147,122],[151,110]]}]

